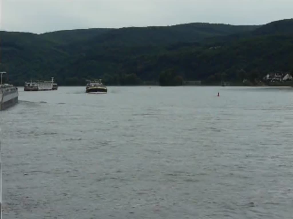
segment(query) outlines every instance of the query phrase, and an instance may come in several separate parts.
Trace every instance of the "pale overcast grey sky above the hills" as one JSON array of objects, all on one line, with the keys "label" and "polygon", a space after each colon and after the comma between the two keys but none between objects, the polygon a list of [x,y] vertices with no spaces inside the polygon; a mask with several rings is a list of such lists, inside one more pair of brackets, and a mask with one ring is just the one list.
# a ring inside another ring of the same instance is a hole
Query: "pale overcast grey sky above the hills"
[{"label": "pale overcast grey sky above the hills", "polygon": [[265,24],[293,17],[293,0],[0,0],[1,30]]}]

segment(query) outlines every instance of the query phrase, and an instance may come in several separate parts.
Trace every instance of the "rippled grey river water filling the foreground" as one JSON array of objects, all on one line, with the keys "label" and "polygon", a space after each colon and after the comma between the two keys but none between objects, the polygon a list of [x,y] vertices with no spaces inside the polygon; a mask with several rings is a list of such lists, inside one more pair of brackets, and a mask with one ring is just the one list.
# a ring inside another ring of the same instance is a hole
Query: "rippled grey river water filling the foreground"
[{"label": "rippled grey river water filling the foreground", "polygon": [[5,219],[292,218],[293,88],[19,91]]}]

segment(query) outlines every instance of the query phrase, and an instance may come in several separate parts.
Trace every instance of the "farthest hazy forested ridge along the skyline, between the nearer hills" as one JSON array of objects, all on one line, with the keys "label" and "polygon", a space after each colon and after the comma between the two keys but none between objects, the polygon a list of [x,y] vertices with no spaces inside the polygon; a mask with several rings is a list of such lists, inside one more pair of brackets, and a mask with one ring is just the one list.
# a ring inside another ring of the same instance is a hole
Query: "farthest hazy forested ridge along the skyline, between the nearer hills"
[{"label": "farthest hazy forested ridge along the skyline, between the nearer hills", "polygon": [[199,42],[211,36],[226,36],[255,30],[258,26],[235,26],[225,24],[189,23],[166,27],[125,27],[119,29],[77,29],[41,34],[53,42],[70,44],[87,42],[94,44],[120,44],[134,46]]}]

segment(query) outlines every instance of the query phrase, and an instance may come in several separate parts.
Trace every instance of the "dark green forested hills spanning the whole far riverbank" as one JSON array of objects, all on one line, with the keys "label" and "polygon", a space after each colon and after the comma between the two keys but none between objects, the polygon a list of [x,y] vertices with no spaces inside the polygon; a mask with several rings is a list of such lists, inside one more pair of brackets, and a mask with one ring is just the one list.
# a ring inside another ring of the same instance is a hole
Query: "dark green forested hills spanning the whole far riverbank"
[{"label": "dark green forested hills spanning the whole far riverbank", "polygon": [[84,85],[250,84],[293,72],[293,19],[259,26],[191,23],[168,27],[0,32],[0,70],[9,83],[30,79]]}]

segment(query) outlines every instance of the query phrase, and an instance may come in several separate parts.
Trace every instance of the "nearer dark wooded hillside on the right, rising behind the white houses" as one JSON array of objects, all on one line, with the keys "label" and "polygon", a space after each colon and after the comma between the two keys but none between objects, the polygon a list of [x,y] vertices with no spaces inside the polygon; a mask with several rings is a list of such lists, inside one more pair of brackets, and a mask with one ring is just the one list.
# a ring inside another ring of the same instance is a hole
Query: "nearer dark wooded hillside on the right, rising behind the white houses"
[{"label": "nearer dark wooded hillside on the right, rising behind the white houses", "polygon": [[[258,36],[219,47],[181,47],[160,55],[137,58],[132,63],[125,63],[123,68],[127,72],[132,66],[140,66],[136,74],[143,80],[172,69],[185,80],[215,83],[254,80],[268,72],[292,71],[292,60],[292,36]],[[244,73],[239,75],[241,70]]]}]

